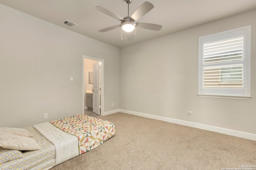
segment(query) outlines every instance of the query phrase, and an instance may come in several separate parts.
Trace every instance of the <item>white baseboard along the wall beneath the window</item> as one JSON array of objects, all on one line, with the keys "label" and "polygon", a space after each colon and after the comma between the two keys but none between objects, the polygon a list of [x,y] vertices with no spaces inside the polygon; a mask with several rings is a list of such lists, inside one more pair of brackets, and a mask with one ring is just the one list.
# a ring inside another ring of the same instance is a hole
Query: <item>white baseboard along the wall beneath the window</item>
[{"label": "white baseboard along the wall beneath the window", "polygon": [[[115,112],[113,112],[113,113],[116,113],[116,112],[120,111],[122,113],[128,113],[128,114],[137,115],[137,116],[141,116],[141,117],[147,117],[147,118],[151,118],[151,119],[167,121],[167,122],[170,122],[170,123],[176,123],[176,124],[179,124],[179,125],[195,127],[195,128],[198,128],[198,129],[204,129],[204,130],[207,130],[207,131],[223,133],[223,134],[226,134],[226,135],[231,135],[231,136],[235,136],[235,137],[241,137],[241,138],[256,141],[256,134],[253,134],[253,133],[235,131],[235,130],[232,130],[232,129],[226,129],[226,128],[222,128],[222,127],[204,125],[204,124],[200,124],[200,123],[194,123],[194,122],[184,121],[184,120],[179,120],[179,119],[172,119],[172,118],[169,118],[169,117],[150,115],[150,114],[140,113],[140,112],[136,112],[136,111],[129,111],[129,110],[124,110],[124,109],[117,109],[117,110],[115,110]],[[109,113],[109,114],[112,114],[112,112]]]}]

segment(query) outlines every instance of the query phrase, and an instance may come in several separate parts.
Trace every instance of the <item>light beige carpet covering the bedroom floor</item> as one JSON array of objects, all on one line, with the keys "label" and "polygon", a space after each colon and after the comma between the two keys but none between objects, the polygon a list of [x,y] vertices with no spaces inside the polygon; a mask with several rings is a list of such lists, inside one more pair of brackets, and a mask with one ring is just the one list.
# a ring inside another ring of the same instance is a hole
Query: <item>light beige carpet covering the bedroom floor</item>
[{"label": "light beige carpet covering the bedroom floor", "polygon": [[116,135],[51,170],[222,170],[256,165],[256,141],[125,113],[98,117],[112,121]]}]

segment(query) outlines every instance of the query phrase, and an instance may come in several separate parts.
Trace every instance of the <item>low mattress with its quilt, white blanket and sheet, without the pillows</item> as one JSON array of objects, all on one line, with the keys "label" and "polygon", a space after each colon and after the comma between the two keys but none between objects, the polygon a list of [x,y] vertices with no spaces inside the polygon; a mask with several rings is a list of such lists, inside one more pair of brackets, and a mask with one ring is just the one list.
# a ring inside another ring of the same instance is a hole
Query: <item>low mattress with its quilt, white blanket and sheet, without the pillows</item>
[{"label": "low mattress with its quilt, white blanket and sheet, without the pillows", "polygon": [[64,117],[24,129],[34,135],[32,138],[41,149],[22,152],[23,158],[0,164],[0,170],[48,170],[98,147],[115,135],[112,122],[88,115]]}]

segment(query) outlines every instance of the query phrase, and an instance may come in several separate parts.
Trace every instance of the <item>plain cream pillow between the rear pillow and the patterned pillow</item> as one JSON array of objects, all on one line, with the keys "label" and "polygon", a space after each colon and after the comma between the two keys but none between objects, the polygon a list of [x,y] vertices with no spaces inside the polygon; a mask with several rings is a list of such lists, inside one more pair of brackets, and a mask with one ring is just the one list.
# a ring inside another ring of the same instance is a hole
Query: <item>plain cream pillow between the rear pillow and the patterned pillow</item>
[{"label": "plain cream pillow between the rear pillow and the patterned pillow", "polygon": [[9,134],[0,135],[0,147],[15,150],[41,149],[33,138]]}]

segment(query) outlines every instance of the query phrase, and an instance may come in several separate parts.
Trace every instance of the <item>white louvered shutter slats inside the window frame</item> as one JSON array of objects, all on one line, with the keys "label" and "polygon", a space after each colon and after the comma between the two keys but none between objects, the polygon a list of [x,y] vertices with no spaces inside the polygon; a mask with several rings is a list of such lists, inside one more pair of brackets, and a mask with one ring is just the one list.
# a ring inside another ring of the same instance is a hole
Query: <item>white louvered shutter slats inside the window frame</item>
[{"label": "white louvered shutter slats inside the window frame", "polygon": [[207,66],[243,61],[244,36],[203,44],[204,88],[242,88],[243,64]]}]

